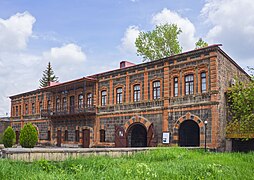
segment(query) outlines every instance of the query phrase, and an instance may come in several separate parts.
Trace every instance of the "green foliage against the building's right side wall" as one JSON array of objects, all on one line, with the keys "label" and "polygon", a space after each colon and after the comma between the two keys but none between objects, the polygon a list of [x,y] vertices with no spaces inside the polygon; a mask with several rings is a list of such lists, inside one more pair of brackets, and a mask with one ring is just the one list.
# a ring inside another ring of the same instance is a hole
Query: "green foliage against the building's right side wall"
[{"label": "green foliage against the building's right side wall", "polygon": [[243,139],[254,134],[254,81],[236,82],[229,89],[229,109],[231,121],[227,124],[227,134],[238,134]]}]

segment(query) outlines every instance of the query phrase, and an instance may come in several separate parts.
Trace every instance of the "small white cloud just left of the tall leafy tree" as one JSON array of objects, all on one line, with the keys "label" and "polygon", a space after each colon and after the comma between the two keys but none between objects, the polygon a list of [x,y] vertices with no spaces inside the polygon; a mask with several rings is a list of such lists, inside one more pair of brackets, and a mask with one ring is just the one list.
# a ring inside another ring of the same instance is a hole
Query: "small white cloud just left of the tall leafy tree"
[{"label": "small white cloud just left of the tall leafy tree", "polygon": [[121,39],[120,49],[127,53],[136,53],[135,41],[140,33],[138,26],[129,26]]}]

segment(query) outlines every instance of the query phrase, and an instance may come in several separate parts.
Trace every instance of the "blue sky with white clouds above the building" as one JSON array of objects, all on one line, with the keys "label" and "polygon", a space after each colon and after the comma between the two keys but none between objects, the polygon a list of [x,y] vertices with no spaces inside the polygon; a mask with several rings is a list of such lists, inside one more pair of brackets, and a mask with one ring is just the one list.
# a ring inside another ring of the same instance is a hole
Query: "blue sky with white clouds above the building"
[{"label": "blue sky with white clouds above the building", "polygon": [[254,67],[253,0],[0,0],[0,117],[9,96],[39,87],[50,61],[60,82],[142,63],[141,31],[174,23],[183,51],[203,38]]}]

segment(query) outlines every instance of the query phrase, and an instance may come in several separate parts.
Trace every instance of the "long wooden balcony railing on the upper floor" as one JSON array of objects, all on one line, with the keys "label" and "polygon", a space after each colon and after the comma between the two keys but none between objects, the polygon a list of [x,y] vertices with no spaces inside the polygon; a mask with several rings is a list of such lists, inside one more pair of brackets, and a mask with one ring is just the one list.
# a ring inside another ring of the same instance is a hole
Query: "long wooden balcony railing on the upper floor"
[{"label": "long wooden balcony railing on the upper floor", "polygon": [[57,118],[65,116],[86,116],[95,115],[95,106],[90,107],[76,107],[71,106],[66,109],[43,109],[41,110],[41,117]]}]

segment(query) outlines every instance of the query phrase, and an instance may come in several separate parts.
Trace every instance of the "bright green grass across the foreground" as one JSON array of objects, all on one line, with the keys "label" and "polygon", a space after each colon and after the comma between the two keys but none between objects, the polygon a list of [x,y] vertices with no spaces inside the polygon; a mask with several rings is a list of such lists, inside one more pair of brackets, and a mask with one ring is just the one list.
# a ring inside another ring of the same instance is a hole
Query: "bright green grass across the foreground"
[{"label": "bright green grass across the foreground", "polygon": [[133,156],[33,163],[0,159],[0,179],[254,179],[254,153],[160,148]]}]

